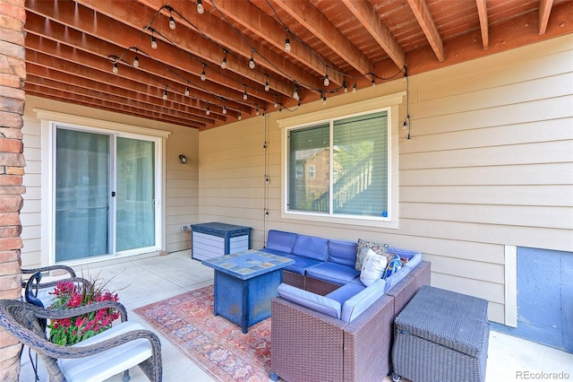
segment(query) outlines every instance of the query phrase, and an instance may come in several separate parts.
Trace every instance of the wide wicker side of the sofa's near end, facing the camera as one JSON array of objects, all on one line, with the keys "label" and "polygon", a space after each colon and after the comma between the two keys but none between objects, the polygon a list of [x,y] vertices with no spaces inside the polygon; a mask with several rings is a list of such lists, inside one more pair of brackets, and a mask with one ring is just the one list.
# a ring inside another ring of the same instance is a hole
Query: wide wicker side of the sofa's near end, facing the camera
[{"label": "wide wicker side of the sofa's near end, facing the camera", "polygon": [[271,312],[271,375],[306,382],[312,370],[314,380],[342,380],[345,322],[280,297]]}]

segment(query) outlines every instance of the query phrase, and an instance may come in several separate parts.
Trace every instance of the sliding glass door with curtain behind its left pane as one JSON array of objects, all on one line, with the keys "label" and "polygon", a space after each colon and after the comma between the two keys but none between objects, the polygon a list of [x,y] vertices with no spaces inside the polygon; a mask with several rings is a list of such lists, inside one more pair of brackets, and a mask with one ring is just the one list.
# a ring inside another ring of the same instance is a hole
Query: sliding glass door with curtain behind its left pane
[{"label": "sliding glass door with curtain behind its left pane", "polygon": [[56,263],[157,247],[157,142],[56,127]]}]

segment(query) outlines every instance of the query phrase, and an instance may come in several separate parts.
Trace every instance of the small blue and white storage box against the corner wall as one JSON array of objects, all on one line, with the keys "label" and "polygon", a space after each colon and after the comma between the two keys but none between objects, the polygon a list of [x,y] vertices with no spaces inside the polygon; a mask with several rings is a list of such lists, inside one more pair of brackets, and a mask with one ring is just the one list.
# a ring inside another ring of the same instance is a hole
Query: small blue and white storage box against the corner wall
[{"label": "small blue and white storage box against the corner wall", "polygon": [[197,260],[251,249],[251,227],[208,222],[192,224],[191,256]]}]

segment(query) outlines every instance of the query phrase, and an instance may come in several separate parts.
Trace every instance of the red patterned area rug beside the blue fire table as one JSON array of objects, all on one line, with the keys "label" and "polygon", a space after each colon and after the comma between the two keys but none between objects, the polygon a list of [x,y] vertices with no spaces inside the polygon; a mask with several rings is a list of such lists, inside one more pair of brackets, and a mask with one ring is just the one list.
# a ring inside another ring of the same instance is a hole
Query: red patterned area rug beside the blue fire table
[{"label": "red patterned area rug beside the blue fire table", "polygon": [[136,308],[175,346],[220,381],[268,381],[270,318],[249,327],[213,316],[213,286]]}]

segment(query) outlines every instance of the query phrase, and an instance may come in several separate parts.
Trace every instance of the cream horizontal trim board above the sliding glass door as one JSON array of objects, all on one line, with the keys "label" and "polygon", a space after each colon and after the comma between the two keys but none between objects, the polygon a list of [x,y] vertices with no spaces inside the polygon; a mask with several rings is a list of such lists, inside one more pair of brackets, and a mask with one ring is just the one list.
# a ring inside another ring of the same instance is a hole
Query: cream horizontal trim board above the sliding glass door
[{"label": "cream horizontal trim board above the sliding glass door", "polygon": [[52,120],[57,122],[63,122],[68,124],[73,124],[73,126],[90,126],[90,127],[99,127],[106,130],[114,130],[119,131],[122,133],[133,133],[137,135],[150,135],[150,136],[157,136],[161,138],[167,138],[171,135],[170,131],[165,130],[156,130],[147,127],[141,126],[133,126],[133,125],[126,125],[126,124],[119,124],[116,122],[109,122],[103,121],[100,119],[93,119],[89,117],[79,117],[73,116],[71,114],[64,114],[58,113],[57,111],[50,111],[44,109],[32,109],[36,113],[36,117],[38,119],[44,120]]}]

